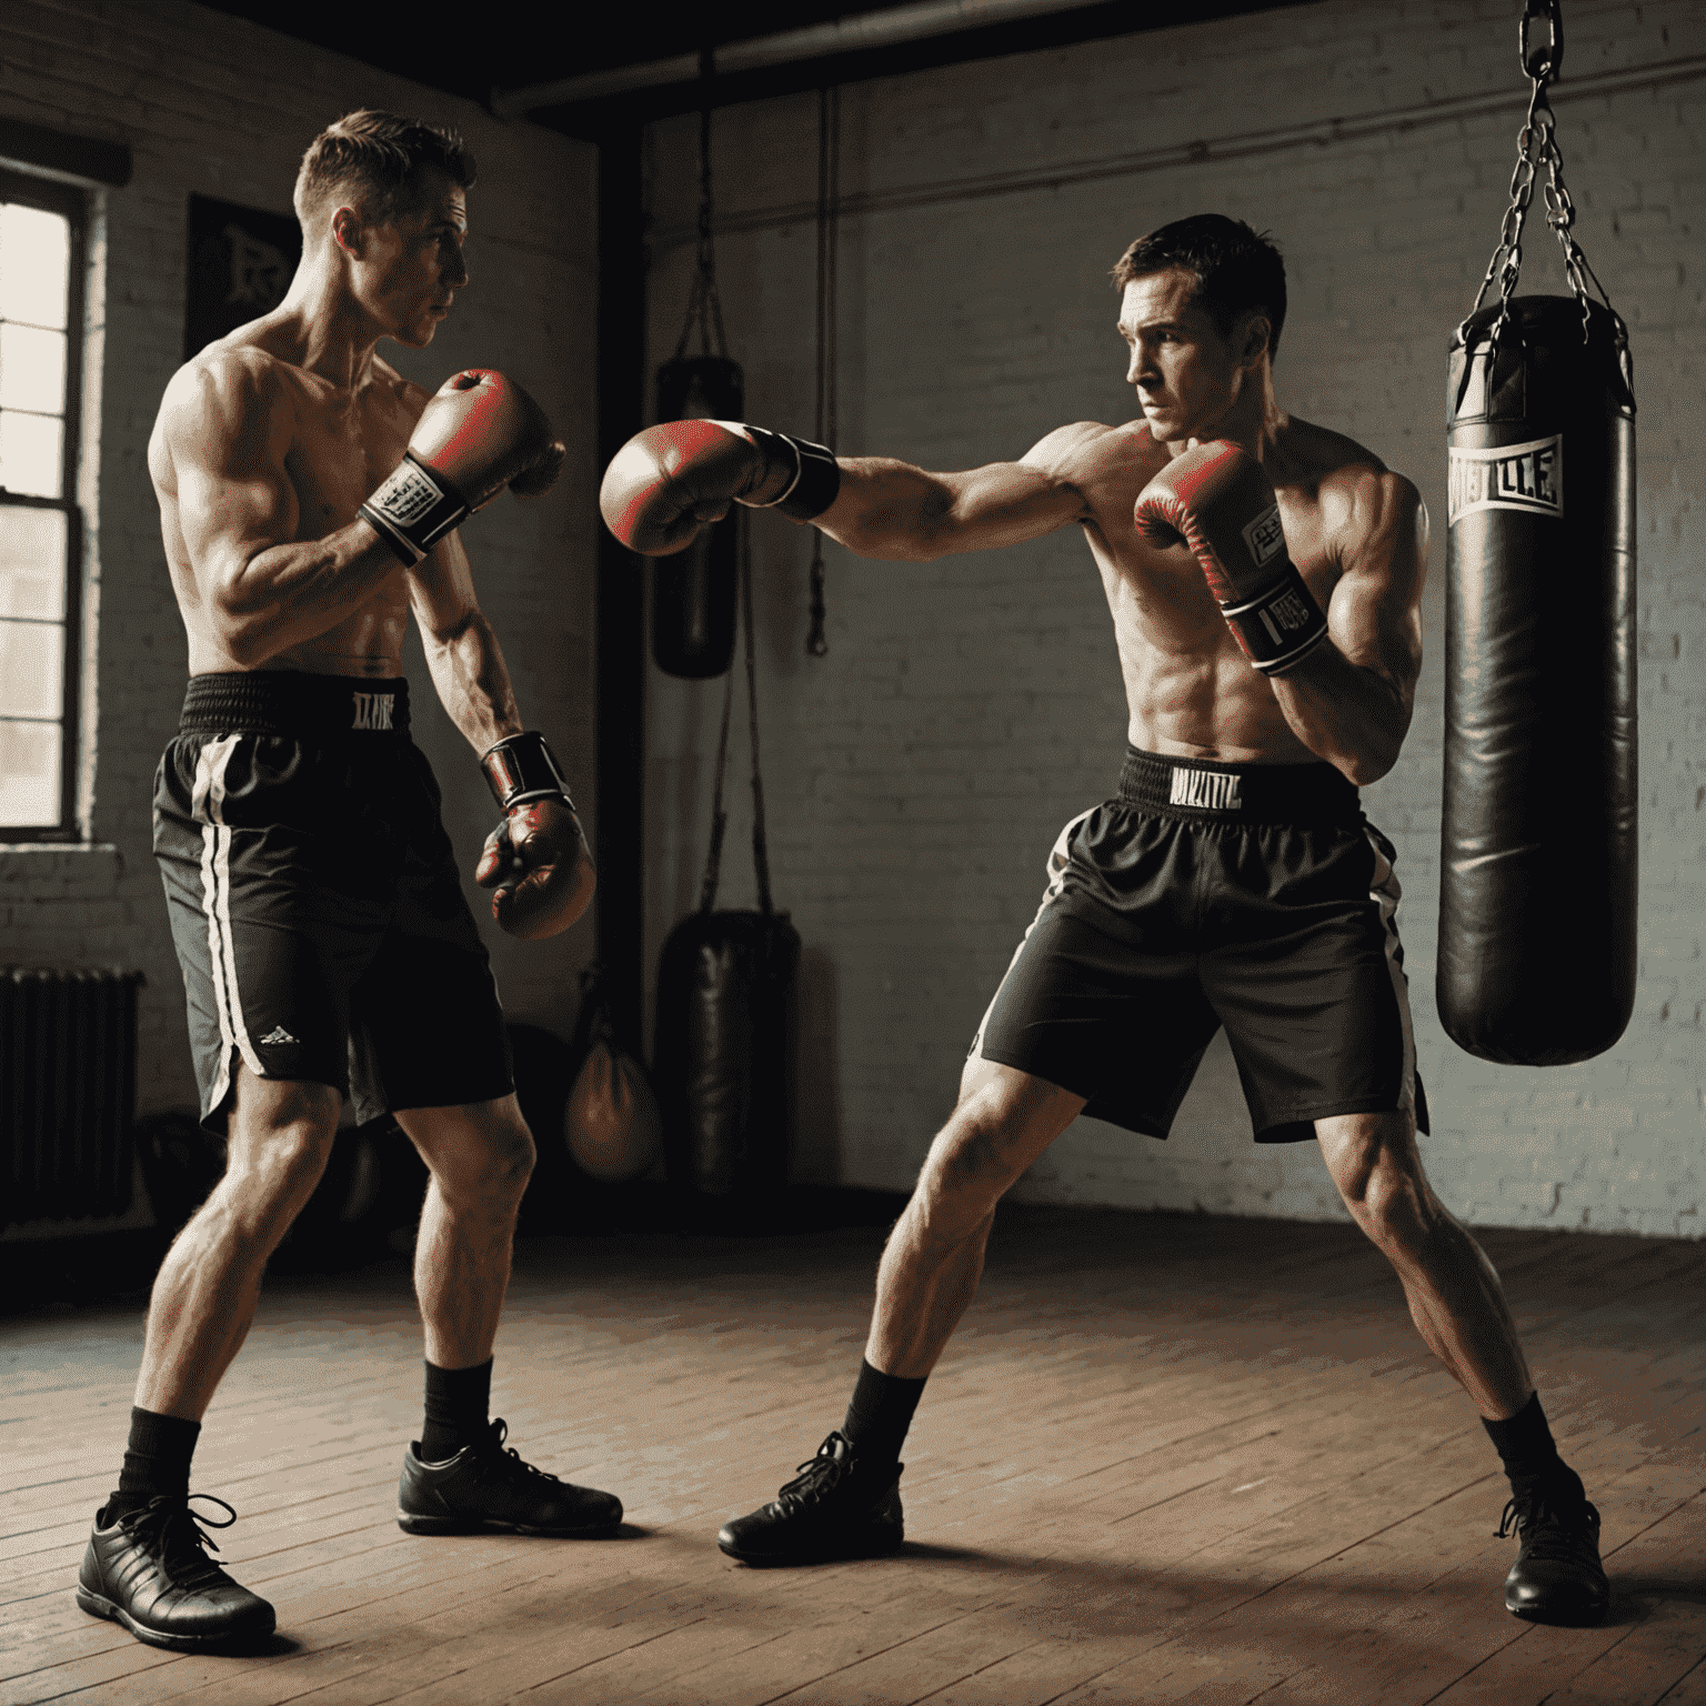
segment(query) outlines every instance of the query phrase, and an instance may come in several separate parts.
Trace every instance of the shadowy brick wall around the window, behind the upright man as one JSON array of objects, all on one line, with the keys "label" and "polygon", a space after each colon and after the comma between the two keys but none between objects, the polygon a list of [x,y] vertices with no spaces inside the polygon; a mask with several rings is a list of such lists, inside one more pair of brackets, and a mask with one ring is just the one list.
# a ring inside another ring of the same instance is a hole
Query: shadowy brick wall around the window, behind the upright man
[{"label": "shadowy brick wall around the window, behind the upright man", "polygon": [[[147,974],[143,1111],[194,1100],[148,822],[186,650],[145,461],[160,392],[183,355],[188,198],[198,191],[288,213],[304,147],[358,106],[454,123],[479,162],[469,194],[471,288],[430,350],[386,345],[382,353],[428,387],[459,367],[505,368],[568,442],[568,471],[548,498],[529,507],[503,498],[464,537],[522,710],[549,732],[577,793],[592,798],[595,152],[183,0],[140,9],[10,0],[0,10],[0,114],[125,142],[135,176],[96,193],[104,280],[90,292],[97,406],[84,479],[92,846],[0,848],[0,960]],[[418,638],[411,648],[416,739],[438,771],[445,821],[471,872],[493,822],[491,797],[437,706]],[[486,901],[473,884],[469,892],[485,918]],[[590,923],[549,943],[512,942],[490,923],[486,933],[510,1015],[566,1029],[578,969],[592,954]]]}]

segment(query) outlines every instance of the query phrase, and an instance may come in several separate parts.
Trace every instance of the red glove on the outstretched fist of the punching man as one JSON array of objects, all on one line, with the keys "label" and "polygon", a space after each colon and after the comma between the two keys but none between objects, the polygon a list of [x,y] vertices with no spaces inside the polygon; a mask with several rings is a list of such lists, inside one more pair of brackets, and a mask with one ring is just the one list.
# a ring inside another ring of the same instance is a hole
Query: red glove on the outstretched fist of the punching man
[{"label": "red glove on the outstretched fist of the punching man", "polygon": [[839,490],[841,467],[821,444],[746,421],[665,421],[616,452],[599,508],[631,551],[669,556],[706,522],[722,520],[730,503],[809,522]]}]

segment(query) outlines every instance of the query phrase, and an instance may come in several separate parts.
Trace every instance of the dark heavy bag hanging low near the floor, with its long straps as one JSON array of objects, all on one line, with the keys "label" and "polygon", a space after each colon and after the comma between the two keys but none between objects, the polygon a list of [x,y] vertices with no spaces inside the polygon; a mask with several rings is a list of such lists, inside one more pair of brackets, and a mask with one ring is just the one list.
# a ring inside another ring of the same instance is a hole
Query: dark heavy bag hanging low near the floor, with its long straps
[{"label": "dark heavy bag hanging low near the floor, with its long straps", "polygon": [[717,747],[711,848],[699,911],[664,943],[657,976],[653,1082],[664,1116],[664,1158],[676,1189],[761,1208],[786,1184],[793,1148],[800,937],[769,894],[764,792],[759,776],[752,587],[744,561],[742,624],[752,742],[752,862],[757,911],[717,911],[722,867],[723,768],[734,674]]}]

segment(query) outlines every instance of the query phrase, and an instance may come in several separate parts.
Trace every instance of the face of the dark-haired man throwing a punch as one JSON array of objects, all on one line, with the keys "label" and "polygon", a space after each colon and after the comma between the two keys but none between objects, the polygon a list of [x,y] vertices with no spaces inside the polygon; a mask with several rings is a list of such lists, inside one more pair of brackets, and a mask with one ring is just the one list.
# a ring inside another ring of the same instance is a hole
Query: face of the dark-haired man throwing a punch
[{"label": "face of the dark-haired man throwing a punch", "polygon": [[1194,295],[1196,278],[1169,268],[1126,285],[1119,310],[1119,334],[1131,350],[1126,382],[1162,444],[1213,438],[1247,382],[1249,316],[1227,336]]}]

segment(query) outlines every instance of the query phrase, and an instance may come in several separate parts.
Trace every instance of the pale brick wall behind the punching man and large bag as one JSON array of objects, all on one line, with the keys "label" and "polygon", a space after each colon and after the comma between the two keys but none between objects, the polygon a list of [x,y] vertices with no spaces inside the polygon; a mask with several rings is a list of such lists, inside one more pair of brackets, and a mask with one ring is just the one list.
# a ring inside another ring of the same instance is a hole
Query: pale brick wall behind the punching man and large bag
[{"label": "pale brick wall behind the punching man and large bag", "polygon": [[[1128,418],[1107,285],[1124,244],[1201,210],[1271,229],[1291,288],[1281,401],[1409,474],[1433,515],[1416,722],[1365,795],[1406,885],[1433,1179],[1472,1221],[1699,1235],[1706,15],[1686,0],[1578,0],[1552,94],[1578,234],[1631,326],[1641,406],[1636,1013],[1609,1053],[1551,1070],[1476,1061],[1435,1013],[1445,350],[1506,201],[1527,92],[1513,17],[1505,0],[1327,0],[846,89],[839,447],[966,467],[1017,457],[1063,421]],[[648,136],[657,360],[691,278],[696,130]],[[715,121],[722,297],[747,413],[807,433],[815,140],[814,96]],[[1535,225],[1523,285],[1564,288]],[[814,660],[809,534],[759,515],[752,539],[769,844],[778,904],[805,940],[797,1169],[906,1187],[1059,824],[1112,790],[1124,706],[1107,609],[1075,531],[928,565],[831,546],[831,650]],[[696,897],[720,691],[650,676],[653,960]],[[734,795],[723,904],[740,906],[754,896],[744,783]],[[1080,1121],[1018,1191],[1343,1213],[1314,1145],[1250,1145],[1223,1044],[1169,1143]]]}]

